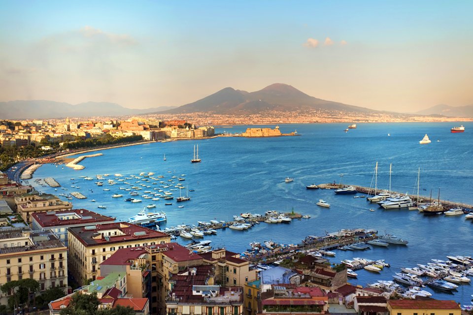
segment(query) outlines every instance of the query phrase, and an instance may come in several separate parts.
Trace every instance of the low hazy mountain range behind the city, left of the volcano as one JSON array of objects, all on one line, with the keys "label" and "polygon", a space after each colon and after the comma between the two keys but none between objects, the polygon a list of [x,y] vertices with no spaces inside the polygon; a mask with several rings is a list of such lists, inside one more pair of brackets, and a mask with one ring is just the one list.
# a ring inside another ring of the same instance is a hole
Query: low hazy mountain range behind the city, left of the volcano
[{"label": "low hazy mountain range behind the city, left of the volcano", "polygon": [[87,102],[72,105],[50,100],[13,100],[0,102],[1,119],[48,119],[64,117],[93,117],[138,115],[169,110],[171,106],[132,109],[107,102]]}]

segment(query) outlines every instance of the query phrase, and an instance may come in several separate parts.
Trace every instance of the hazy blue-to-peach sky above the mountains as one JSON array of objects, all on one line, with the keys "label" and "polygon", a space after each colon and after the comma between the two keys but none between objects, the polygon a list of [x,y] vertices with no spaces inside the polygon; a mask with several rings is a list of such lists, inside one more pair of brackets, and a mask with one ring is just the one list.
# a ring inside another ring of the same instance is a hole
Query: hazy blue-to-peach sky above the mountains
[{"label": "hazy blue-to-peach sky above the mountains", "polygon": [[0,101],[179,106],[285,83],[397,112],[473,104],[473,1],[0,0]]}]

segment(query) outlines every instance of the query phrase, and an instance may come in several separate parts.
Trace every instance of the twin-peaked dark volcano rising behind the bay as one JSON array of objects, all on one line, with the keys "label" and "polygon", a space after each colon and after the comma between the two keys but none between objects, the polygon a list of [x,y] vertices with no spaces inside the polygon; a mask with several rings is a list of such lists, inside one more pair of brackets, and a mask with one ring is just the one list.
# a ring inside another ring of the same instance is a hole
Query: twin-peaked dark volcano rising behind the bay
[{"label": "twin-peaked dark volcano rising behind the bay", "polygon": [[358,113],[376,112],[369,108],[315,98],[290,85],[275,83],[251,93],[225,88],[198,101],[167,110],[164,113],[257,114],[272,110],[293,111],[300,109],[341,110]]}]

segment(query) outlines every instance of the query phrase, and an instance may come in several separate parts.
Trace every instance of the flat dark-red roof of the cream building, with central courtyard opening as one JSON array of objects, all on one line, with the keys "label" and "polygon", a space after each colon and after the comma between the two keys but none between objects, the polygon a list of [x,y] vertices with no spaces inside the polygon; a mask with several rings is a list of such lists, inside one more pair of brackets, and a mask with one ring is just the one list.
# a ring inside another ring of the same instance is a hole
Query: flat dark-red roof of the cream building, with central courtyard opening
[{"label": "flat dark-red roof of the cream building, with central courtyard opening", "polygon": [[[101,231],[107,230],[119,230],[124,235],[105,235],[105,237],[101,237],[100,239],[94,239],[93,237],[101,233]],[[83,226],[78,227],[69,227],[69,232],[74,235],[82,244],[85,246],[89,245],[98,245],[98,244],[113,244],[118,242],[124,241],[135,241],[135,240],[146,240],[151,238],[165,238],[168,234],[155,231],[146,227],[142,227],[139,225],[127,223],[127,222],[114,222],[114,223],[104,223],[96,225],[94,229],[85,228]],[[143,235],[136,235],[135,233]]]}]

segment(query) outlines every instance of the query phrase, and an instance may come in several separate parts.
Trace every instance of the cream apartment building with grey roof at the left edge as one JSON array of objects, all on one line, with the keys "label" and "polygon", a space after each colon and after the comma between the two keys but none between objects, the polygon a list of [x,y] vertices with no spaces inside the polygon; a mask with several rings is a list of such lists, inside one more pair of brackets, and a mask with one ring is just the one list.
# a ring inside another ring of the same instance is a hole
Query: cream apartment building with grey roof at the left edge
[{"label": "cream apartment building with grey roof at the left edge", "polygon": [[[49,231],[0,231],[0,284],[34,279],[40,290],[68,286],[67,248]],[[0,302],[8,295],[1,292]]]}]

